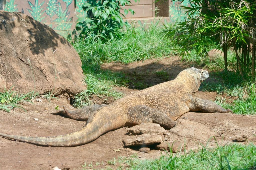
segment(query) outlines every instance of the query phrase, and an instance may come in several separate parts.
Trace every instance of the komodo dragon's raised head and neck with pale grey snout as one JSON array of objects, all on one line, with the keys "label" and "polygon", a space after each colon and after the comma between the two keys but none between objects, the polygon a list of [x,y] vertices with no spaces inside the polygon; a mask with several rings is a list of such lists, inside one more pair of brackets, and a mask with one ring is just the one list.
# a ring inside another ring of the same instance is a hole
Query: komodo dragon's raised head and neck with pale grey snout
[{"label": "komodo dragon's raised head and neck with pale grey snout", "polygon": [[180,72],[176,79],[178,79],[180,82],[184,82],[186,86],[191,88],[192,93],[195,93],[198,91],[201,82],[206,80],[208,77],[208,71],[192,67]]}]

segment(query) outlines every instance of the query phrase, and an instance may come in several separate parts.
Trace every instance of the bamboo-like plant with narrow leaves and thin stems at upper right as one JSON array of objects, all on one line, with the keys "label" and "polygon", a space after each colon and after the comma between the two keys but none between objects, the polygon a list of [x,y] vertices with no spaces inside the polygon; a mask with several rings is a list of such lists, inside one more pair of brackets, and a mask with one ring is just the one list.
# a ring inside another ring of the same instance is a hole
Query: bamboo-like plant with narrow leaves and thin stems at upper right
[{"label": "bamboo-like plant with narrow leaves and thin stems at upper right", "polygon": [[[182,6],[184,0],[178,1]],[[217,46],[223,50],[227,71],[227,51],[233,48],[237,72],[243,79],[255,78],[256,1],[190,0],[190,7],[182,8],[187,14],[185,21],[164,33],[179,46],[183,57],[192,49],[206,56],[212,46]]]}]

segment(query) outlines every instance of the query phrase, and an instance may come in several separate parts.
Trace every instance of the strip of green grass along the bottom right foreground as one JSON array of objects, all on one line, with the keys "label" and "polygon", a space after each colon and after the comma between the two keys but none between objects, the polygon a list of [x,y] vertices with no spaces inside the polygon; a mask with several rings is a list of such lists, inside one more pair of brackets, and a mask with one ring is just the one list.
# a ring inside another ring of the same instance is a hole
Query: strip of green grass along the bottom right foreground
[{"label": "strip of green grass along the bottom right foreground", "polygon": [[[139,159],[134,154],[128,158],[114,158],[107,163],[109,166],[105,169],[112,169],[112,165],[115,166],[113,169],[256,169],[256,146],[252,143],[217,145],[216,148],[203,146],[189,153],[167,153],[154,160]],[[95,165],[89,165],[83,167],[97,169]]]}]

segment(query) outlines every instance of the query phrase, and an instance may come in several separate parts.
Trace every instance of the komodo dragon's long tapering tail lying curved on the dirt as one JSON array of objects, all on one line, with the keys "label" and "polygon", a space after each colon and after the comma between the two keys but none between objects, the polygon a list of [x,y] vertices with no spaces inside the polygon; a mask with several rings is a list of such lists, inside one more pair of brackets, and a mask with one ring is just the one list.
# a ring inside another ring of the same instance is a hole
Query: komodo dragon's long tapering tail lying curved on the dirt
[{"label": "komodo dragon's long tapering tail lying curved on the dirt", "polygon": [[[111,118],[110,118],[111,117]],[[100,135],[111,130],[118,129],[124,126],[125,121],[121,121],[121,117],[116,115],[100,113],[93,116],[92,120],[84,126],[80,131],[69,133],[66,135],[53,137],[27,137],[7,135],[0,133],[0,136],[14,139],[22,142],[32,143],[39,146],[51,147],[73,147],[89,143],[97,139]],[[123,116],[122,116],[123,118]],[[111,121],[110,121],[111,120]]]}]

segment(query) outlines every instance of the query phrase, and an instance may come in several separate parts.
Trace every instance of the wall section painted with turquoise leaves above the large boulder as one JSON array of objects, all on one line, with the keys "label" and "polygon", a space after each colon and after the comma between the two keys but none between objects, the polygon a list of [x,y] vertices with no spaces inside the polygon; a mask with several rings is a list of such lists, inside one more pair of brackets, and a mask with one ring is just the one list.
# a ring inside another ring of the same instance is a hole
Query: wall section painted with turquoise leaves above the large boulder
[{"label": "wall section painted with turquoise leaves above the large boulder", "polygon": [[83,5],[83,3],[78,3],[78,8],[75,10],[74,0],[7,0],[4,10],[10,12],[24,11],[24,14],[47,24],[59,34],[67,36],[75,28],[76,17],[84,16],[84,11],[79,10],[82,9],[79,4]]}]

